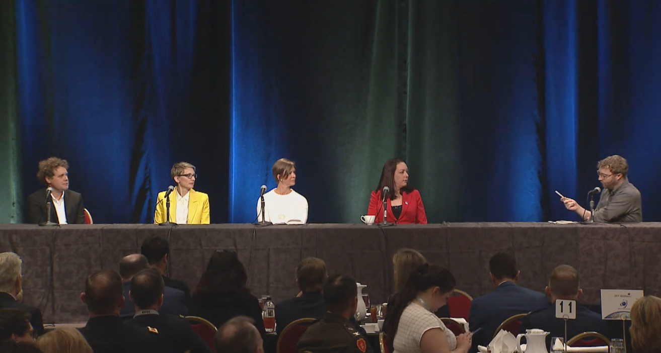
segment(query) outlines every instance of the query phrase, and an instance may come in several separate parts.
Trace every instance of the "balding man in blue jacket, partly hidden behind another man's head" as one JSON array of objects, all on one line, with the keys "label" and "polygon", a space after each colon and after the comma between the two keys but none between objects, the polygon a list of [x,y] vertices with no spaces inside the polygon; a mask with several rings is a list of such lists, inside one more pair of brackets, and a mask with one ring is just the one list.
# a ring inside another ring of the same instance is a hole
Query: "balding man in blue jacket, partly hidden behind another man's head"
[{"label": "balding man in blue jacket, partly hidden behind another man's head", "polygon": [[[131,278],[144,269],[149,269],[149,262],[147,262],[144,255],[132,254],[125,256],[120,261],[120,276],[122,276],[122,284],[124,285],[124,306],[120,310],[122,319],[130,319],[136,313],[136,305],[133,304],[128,292],[131,289]],[[165,287],[163,290],[163,306],[159,309],[159,313],[188,315],[186,294],[181,290]]]}]

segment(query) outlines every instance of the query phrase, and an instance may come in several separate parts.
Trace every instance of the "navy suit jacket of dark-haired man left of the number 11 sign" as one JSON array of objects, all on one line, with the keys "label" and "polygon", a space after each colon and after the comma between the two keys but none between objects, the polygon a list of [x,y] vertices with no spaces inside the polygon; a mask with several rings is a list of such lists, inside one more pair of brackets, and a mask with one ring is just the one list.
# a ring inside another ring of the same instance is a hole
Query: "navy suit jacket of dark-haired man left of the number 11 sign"
[{"label": "navy suit jacket of dark-haired man left of the number 11 sign", "polygon": [[477,352],[478,345],[488,346],[498,326],[508,317],[547,306],[549,303],[544,294],[510,281],[501,283],[493,292],[475,298],[471,302],[468,322],[471,332],[482,329],[473,336],[471,352]]}]

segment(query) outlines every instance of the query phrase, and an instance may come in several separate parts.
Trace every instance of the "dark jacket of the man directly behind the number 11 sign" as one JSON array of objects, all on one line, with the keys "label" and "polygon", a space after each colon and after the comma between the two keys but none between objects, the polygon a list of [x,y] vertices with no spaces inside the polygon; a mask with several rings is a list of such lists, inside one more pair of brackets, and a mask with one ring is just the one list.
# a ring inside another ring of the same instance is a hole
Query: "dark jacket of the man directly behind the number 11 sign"
[{"label": "dark jacket of the man directly behind the number 11 sign", "polygon": [[[555,305],[547,305],[524,317],[521,323],[521,333],[525,333],[526,329],[542,329],[549,332],[549,335],[546,336],[546,345],[551,346],[552,337],[564,337],[564,320],[555,317]],[[607,322],[602,320],[602,315],[578,304],[576,305],[576,319],[567,320],[567,340],[588,331],[612,337],[609,335]]]}]

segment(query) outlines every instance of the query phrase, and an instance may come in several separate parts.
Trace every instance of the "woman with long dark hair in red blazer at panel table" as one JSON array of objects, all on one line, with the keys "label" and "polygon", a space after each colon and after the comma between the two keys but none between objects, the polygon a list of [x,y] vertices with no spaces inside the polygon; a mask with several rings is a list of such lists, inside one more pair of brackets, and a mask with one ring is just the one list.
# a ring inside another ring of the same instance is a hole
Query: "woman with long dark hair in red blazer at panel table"
[{"label": "woman with long dark hair in red blazer at panel table", "polygon": [[375,223],[383,222],[383,198],[381,190],[389,187],[386,195],[386,220],[399,224],[427,224],[422,198],[418,190],[408,187],[408,167],[404,160],[393,158],[385,162],[381,179],[375,191],[371,192],[368,215],[376,216]]}]

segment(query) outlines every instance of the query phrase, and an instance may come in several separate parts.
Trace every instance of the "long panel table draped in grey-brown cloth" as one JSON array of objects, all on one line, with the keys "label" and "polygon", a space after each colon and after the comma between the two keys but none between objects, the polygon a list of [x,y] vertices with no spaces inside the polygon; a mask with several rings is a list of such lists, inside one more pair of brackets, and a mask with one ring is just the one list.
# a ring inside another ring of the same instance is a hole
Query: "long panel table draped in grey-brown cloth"
[{"label": "long panel table draped in grey-brown cloth", "polygon": [[297,293],[295,267],[305,257],[326,261],[329,274],[352,274],[372,302],[392,288],[392,255],[418,249],[457,278],[472,296],[492,290],[488,260],[516,255],[522,286],[543,291],[553,268],[576,267],[584,302],[600,302],[601,288],[644,289],[661,294],[661,223],[549,224],[457,223],[398,225],[307,224],[256,228],[251,224],[154,226],[94,224],[39,227],[0,224],[0,251],[23,260],[24,301],[40,307],[44,322],[86,321],[79,294],[85,278],[118,269],[124,255],[139,252],[144,238],[158,234],[171,245],[171,277],[194,290],[216,249],[234,249],[248,273],[253,294],[277,302]]}]

